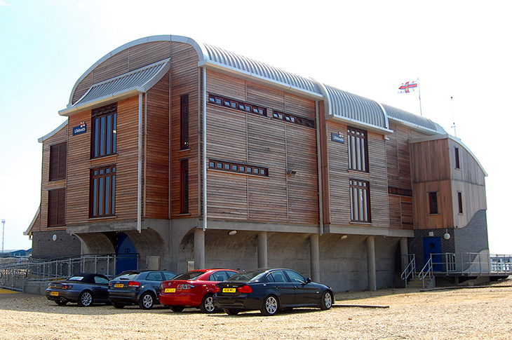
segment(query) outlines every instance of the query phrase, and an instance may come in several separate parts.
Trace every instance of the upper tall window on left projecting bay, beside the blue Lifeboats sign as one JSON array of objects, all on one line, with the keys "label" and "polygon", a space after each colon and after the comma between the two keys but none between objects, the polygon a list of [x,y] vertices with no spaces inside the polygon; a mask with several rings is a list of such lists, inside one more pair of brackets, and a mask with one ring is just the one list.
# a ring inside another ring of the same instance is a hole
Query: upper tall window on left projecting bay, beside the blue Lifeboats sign
[{"label": "upper tall window on left projecting bay, beside the blue Lifeboats sign", "polygon": [[117,103],[93,109],[91,158],[116,153]]}]

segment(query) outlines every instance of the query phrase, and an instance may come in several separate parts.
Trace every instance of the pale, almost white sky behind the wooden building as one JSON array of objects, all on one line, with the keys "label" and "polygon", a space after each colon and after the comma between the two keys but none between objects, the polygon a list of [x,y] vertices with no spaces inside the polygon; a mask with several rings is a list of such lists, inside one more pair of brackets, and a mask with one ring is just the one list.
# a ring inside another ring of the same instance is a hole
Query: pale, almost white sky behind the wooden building
[{"label": "pale, almost white sky behind the wooden building", "polygon": [[[41,201],[40,137],[77,79],[124,43],[175,34],[419,114],[461,138],[489,175],[490,252],[512,254],[504,149],[512,123],[509,1],[0,0],[0,219],[28,249]],[[453,97],[450,100],[450,97]],[[84,203],[85,204],[85,203]],[[85,206],[84,206],[85,208]]]}]

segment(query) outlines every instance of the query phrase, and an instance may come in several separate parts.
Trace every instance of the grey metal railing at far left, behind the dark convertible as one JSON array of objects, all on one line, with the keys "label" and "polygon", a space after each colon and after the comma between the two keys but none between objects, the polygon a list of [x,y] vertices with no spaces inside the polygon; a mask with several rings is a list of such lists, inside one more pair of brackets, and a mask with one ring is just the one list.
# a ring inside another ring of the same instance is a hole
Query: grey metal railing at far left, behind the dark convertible
[{"label": "grey metal railing at far left, behind the dark convertible", "polygon": [[[133,254],[138,258],[138,254]],[[126,258],[126,255],[123,255]],[[27,282],[69,278],[77,273],[100,273],[109,278],[116,274],[115,254],[88,254],[67,259],[13,259],[0,264],[0,288],[23,292]]]}]

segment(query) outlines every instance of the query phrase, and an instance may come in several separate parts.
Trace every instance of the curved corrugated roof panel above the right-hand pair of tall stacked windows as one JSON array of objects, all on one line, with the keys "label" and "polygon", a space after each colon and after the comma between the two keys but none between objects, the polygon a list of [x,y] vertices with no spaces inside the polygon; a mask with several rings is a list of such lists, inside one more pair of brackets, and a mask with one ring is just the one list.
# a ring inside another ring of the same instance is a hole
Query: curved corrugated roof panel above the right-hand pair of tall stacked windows
[{"label": "curved corrugated roof panel above the right-hand pair of tall stacked windows", "polygon": [[328,94],[329,115],[378,128],[388,128],[386,116],[379,103],[332,86],[324,86]]}]

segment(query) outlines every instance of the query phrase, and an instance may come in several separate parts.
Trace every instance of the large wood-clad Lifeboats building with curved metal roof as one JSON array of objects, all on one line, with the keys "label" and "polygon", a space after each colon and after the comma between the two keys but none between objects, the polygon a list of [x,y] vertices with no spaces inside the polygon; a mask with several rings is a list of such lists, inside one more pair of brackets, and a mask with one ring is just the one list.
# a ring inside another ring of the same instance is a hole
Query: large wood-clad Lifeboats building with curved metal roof
[{"label": "large wood-clad Lifeboats building with curved metal roof", "polygon": [[423,266],[489,254],[486,173],[460,140],[222,48],[127,43],[58,114],[67,121],[39,140],[41,206],[26,232],[36,258],[286,267],[341,292],[402,285],[411,255]]}]

